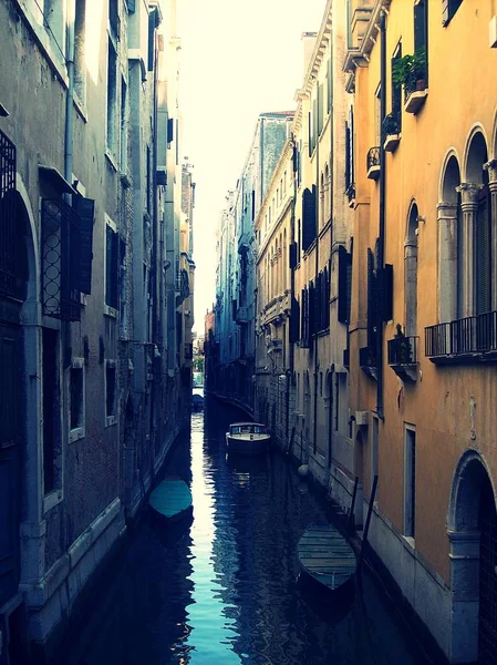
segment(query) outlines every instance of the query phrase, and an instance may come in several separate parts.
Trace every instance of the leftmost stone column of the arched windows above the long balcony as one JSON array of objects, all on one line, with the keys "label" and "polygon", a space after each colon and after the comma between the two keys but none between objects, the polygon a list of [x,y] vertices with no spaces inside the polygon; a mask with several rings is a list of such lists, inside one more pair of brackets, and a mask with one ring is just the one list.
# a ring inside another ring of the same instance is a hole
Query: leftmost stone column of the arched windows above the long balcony
[{"label": "leftmost stone column of the arched windows above the long balcony", "polygon": [[438,222],[438,320],[457,318],[457,204],[442,202]]}]

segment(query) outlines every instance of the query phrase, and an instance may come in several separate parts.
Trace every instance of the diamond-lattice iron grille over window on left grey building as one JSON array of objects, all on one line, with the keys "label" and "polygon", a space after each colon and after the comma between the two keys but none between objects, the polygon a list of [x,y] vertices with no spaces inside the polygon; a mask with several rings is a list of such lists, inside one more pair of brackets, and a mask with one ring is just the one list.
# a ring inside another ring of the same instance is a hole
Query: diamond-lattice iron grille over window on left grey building
[{"label": "diamond-lattice iron grille over window on left grey building", "polygon": [[42,200],[43,314],[81,319],[80,216],[64,201]]}]

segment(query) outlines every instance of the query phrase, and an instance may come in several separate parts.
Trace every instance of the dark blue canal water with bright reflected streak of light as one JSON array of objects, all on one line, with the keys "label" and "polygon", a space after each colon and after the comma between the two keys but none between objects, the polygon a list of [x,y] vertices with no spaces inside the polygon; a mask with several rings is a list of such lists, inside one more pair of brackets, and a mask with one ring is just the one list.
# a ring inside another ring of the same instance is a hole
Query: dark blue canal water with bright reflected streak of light
[{"label": "dark blue canal water with bright reflected streak of light", "polygon": [[145,511],[60,664],[426,663],[366,569],[341,603],[299,579],[297,543],[327,507],[278,452],[229,459],[239,419],[218,402],[193,415],[166,473],[189,484],[194,519],[170,530]]}]

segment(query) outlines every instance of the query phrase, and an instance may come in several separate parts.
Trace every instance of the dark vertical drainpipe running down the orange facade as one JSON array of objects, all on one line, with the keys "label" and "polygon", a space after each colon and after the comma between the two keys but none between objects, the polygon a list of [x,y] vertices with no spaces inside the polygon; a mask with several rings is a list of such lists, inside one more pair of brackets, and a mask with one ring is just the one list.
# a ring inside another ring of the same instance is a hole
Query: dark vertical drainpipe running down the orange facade
[{"label": "dark vertical drainpipe running down the orange facade", "polygon": [[[381,33],[381,63],[380,63],[380,116],[384,120],[386,115],[386,25],[385,12],[380,14]],[[379,228],[379,256],[376,275],[383,274],[385,257],[385,185],[386,185],[386,160],[383,149],[383,141],[380,141],[380,228]],[[383,315],[375,313],[376,317],[376,362],[377,362],[377,383],[376,383],[376,412],[379,418],[384,419],[383,410]]]}]

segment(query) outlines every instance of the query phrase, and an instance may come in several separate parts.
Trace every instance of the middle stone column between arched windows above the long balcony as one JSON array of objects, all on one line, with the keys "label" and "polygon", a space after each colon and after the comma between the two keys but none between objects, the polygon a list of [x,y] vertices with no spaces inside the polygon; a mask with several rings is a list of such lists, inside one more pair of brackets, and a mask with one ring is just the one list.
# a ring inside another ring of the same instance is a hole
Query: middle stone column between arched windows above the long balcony
[{"label": "middle stone column between arched windows above the long balcony", "polygon": [[462,183],[456,187],[462,196],[463,233],[462,233],[462,276],[463,276],[463,317],[472,316],[476,305],[475,279],[475,231],[478,194],[483,185]]}]

